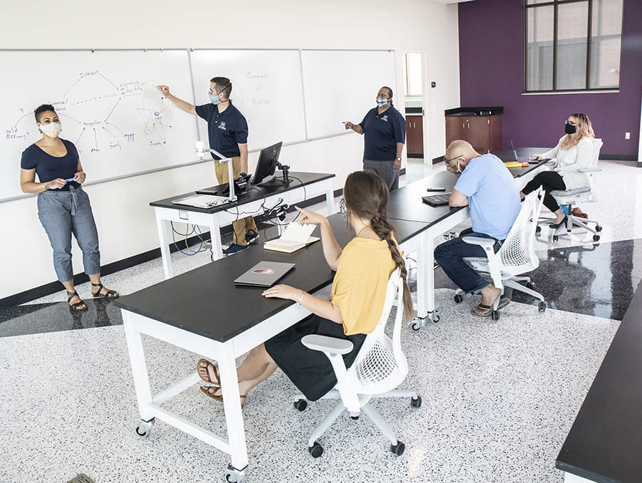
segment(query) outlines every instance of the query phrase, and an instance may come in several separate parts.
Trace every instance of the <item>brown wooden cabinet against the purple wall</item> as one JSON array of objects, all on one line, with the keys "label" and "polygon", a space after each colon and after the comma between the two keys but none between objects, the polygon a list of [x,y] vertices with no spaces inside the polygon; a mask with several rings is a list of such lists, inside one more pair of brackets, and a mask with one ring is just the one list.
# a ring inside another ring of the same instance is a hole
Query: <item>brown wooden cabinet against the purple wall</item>
[{"label": "brown wooden cabinet against the purple wall", "polygon": [[470,142],[474,150],[482,155],[501,150],[501,114],[447,114],[446,145],[457,139]]}]

